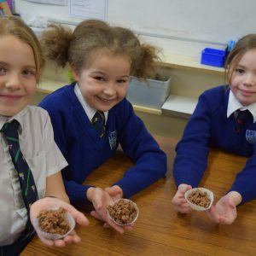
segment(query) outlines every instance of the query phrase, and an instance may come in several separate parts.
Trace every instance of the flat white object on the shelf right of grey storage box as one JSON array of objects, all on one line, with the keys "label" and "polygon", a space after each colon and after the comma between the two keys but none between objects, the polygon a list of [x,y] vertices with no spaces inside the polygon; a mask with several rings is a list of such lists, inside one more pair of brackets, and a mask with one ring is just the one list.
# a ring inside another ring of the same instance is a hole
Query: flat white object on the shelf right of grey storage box
[{"label": "flat white object on the shelf right of grey storage box", "polygon": [[162,113],[189,118],[194,112],[197,99],[191,97],[170,95],[162,106]]}]

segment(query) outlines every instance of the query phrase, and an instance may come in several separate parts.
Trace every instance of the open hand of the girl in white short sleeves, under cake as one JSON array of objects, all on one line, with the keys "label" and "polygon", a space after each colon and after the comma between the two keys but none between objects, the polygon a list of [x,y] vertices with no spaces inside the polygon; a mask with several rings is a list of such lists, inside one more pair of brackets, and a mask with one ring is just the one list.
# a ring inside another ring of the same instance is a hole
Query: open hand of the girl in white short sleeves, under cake
[{"label": "open hand of the girl in white short sleeves, under cake", "polygon": [[[43,199],[39,199],[38,201],[34,202],[30,208],[30,219],[31,223],[33,224],[33,221],[35,218],[38,217],[39,212],[42,210],[46,210],[49,208],[59,208],[63,207],[69,212],[73,218],[75,219],[76,223],[86,227],[89,225],[88,219],[84,216],[84,213],[79,212],[77,209],[75,209],[73,206],[68,204],[65,201],[61,201],[57,198],[52,197],[44,197]],[[37,231],[37,230],[36,230]],[[40,236],[38,234],[38,237],[42,242],[44,242],[45,245],[51,247],[65,247],[68,244],[71,243],[78,243],[81,241],[80,237],[76,234],[75,230],[73,230],[68,236],[64,237],[61,240],[49,240],[44,238],[43,236]]]}]

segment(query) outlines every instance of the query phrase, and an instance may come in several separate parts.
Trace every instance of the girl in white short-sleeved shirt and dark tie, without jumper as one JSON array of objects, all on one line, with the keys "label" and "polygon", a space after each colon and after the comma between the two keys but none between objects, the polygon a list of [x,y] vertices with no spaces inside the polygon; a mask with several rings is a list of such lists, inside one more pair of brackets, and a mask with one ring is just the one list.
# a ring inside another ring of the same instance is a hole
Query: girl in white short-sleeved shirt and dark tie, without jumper
[{"label": "girl in white short-sleeved shirt and dark tie, without jumper", "polygon": [[[68,204],[61,169],[67,166],[54,141],[48,113],[29,106],[44,67],[38,38],[18,17],[0,17],[0,254],[20,255],[31,241],[33,220],[49,207],[64,207],[79,224],[88,220]],[[38,235],[48,246],[62,240]]]}]

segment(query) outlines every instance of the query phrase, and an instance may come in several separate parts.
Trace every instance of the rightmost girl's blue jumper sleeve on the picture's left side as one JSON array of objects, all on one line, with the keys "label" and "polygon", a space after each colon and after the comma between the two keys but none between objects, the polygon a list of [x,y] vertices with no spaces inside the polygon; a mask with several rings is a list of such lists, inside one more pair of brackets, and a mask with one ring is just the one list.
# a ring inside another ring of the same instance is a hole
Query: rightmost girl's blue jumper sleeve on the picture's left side
[{"label": "rightmost girl's blue jumper sleeve on the picture's left side", "polygon": [[197,187],[207,169],[212,110],[205,96],[200,96],[195,112],[189,119],[183,137],[177,143],[173,177],[181,183]]}]

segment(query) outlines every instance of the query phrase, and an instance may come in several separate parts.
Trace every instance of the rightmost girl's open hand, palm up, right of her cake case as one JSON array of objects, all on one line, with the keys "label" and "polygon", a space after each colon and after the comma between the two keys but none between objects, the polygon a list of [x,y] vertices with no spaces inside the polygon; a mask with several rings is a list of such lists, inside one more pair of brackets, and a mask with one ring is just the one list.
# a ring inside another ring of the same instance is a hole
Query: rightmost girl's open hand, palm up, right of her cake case
[{"label": "rightmost girl's open hand, palm up, right of her cake case", "polygon": [[237,216],[236,206],[241,203],[241,195],[236,191],[231,191],[224,195],[208,211],[207,215],[217,224],[232,224]]}]

